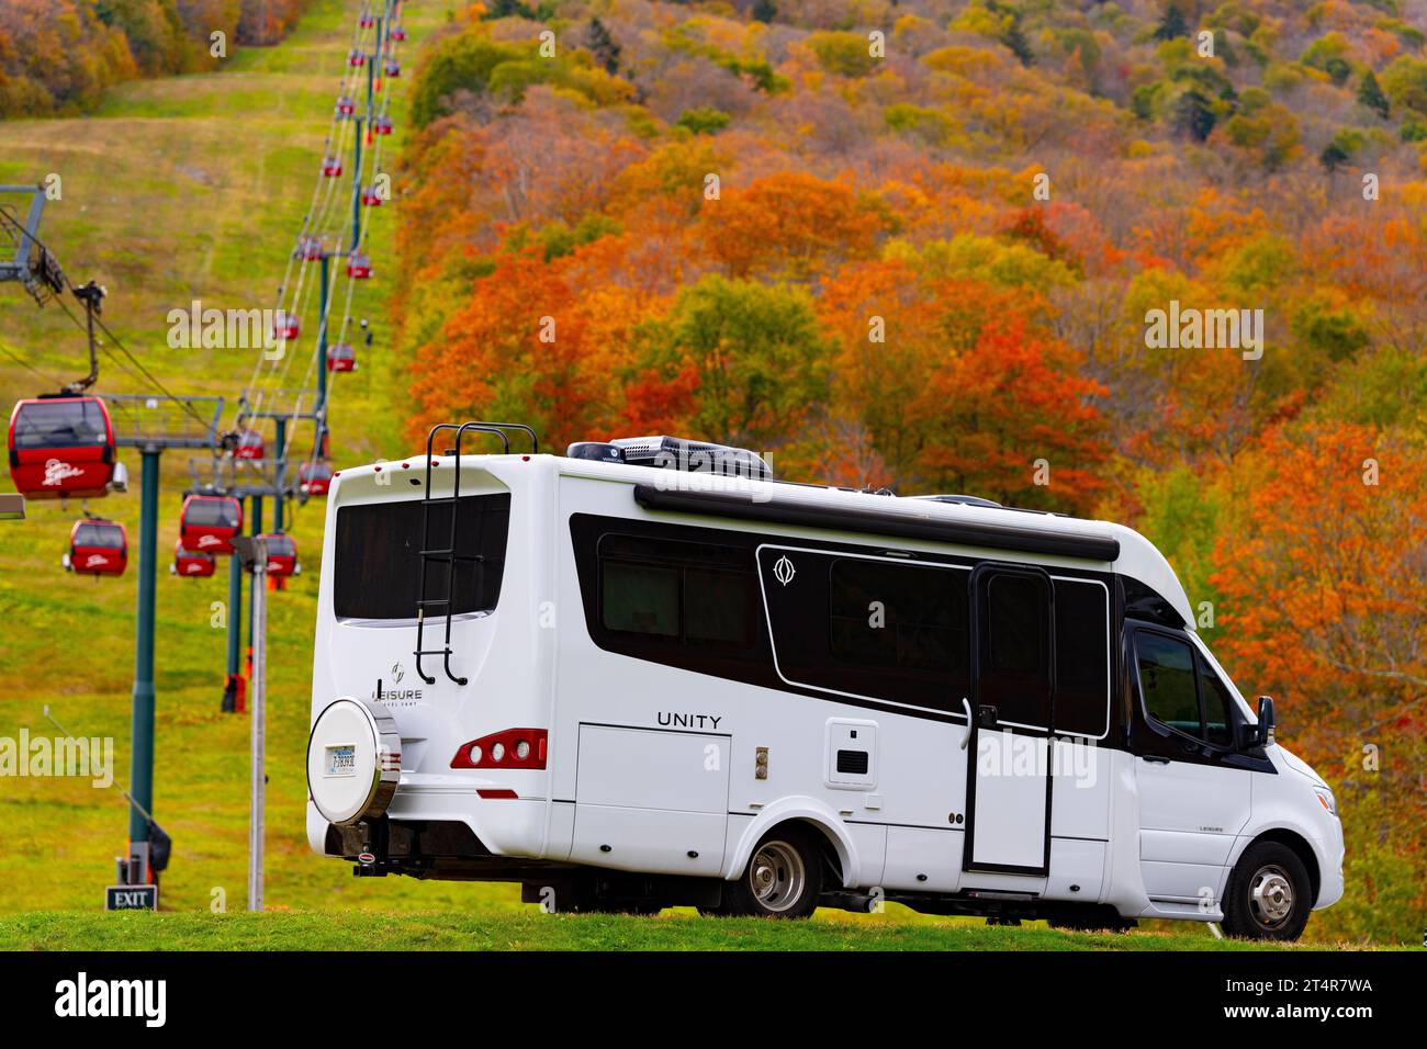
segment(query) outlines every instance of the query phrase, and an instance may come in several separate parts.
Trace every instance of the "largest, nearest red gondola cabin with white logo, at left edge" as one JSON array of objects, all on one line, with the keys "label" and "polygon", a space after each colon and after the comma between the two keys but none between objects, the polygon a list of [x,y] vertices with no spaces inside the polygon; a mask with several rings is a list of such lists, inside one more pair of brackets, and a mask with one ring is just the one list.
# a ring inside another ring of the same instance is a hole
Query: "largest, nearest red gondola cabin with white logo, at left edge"
[{"label": "largest, nearest red gondola cabin with white logo, at left edge", "polygon": [[41,397],[10,412],[10,478],[29,500],[93,500],[114,480],[114,425],[97,397]]}]

